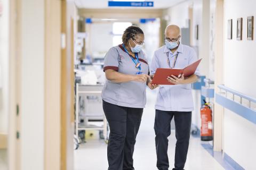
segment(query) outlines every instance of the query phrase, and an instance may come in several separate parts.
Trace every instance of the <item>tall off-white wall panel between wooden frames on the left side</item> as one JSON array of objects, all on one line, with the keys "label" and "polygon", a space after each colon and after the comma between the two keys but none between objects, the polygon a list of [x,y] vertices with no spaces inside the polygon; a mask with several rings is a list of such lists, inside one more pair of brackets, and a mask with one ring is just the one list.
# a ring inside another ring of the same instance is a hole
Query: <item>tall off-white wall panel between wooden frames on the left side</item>
[{"label": "tall off-white wall panel between wooden frames on the left side", "polygon": [[21,170],[44,169],[44,3],[21,2]]}]

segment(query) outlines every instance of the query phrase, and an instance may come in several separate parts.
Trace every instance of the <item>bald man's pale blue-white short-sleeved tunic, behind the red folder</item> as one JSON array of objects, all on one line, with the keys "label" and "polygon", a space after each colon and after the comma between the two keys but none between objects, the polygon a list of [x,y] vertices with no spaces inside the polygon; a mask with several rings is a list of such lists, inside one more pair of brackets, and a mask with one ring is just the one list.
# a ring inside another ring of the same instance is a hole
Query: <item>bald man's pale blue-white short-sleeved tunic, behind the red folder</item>
[{"label": "bald man's pale blue-white short-sleeved tunic, behind the red folder", "polygon": [[[170,68],[167,57],[172,67],[175,56],[178,54],[175,69],[183,69],[196,62],[197,56],[193,48],[180,44],[176,52],[172,53],[165,45],[154,53],[150,65],[150,74],[155,74],[157,68]],[[200,76],[199,69],[195,74]],[[157,95],[155,109],[161,111],[190,112],[194,110],[191,84],[161,85]]]}]

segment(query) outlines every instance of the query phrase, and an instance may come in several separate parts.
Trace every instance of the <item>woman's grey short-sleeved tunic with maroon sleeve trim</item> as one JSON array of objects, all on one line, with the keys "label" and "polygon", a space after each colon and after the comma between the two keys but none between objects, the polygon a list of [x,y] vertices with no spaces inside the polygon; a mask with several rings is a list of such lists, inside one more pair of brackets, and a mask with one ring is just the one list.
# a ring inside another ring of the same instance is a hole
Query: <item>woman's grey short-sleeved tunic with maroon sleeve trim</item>
[{"label": "woman's grey short-sleeved tunic with maroon sleeve trim", "polygon": [[[138,53],[138,56],[141,63],[141,72],[149,74],[147,59],[142,50]],[[125,52],[122,45],[110,48],[106,54],[103,71],[108,69],[131,75],[136,75],[139,72],[131,56]],[[106,80],[101,96],[104,101],[110,104],[144,108],[146,105],[146,82],[130,81],[115,83]]]}]

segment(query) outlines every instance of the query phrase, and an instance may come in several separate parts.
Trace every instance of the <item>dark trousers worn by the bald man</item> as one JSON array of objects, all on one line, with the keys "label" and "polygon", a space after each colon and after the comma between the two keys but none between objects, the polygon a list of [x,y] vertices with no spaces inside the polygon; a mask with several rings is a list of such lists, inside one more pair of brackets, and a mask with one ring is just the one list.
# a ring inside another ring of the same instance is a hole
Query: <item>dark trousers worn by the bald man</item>
[{"label": "dark trousers worn by the bald man", "polygon": [[156,110],[155,116],[155,134],[156,134],[156,155],[157,168],[167,170],[169,168],[169,159],[167,155],[168,139],[171,134],[171,120],[174,116],[175,122],[175,168],[183,169],[187,159],[190,128],[191,112],[169,112]]}]

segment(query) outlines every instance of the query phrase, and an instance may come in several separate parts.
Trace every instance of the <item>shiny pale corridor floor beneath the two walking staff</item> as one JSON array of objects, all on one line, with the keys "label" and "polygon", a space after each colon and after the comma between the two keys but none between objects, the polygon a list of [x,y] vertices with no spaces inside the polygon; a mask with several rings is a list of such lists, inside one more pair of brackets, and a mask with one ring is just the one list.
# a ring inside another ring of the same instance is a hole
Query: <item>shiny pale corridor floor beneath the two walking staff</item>
[{"label": "shiny pale corridor floor beneath the two walking staff", "polygon": [[[134,167],[136,169],[156,169],[155,132],[153,127],[155,119],[154,98],[156,98],[156,93],[149,91],[147,95],[150,99],[147,101],[147,106],[142,116],[133,155]],[[169,161],[172,164],[174,164],[175,141],[175,130],[172,130],[168,150],[170,155]],[[211,149],[209,142],[201,142],[199,135],[191,135],[189,145],[185,169],[235,169],[222,160],[221,152],[214,152]],[[99,140],[98,135],[88,137],[87,142],[82,144],[81,148],[75,150],[75,169],[105,169],[108,166],[106,155],[106,143]],[[99,159],[102,160],[101,163],[99,163]],[[86,164],[84,164],[85,160],[87,160]],[[198,162],[198,160],[200,161]]]}]

